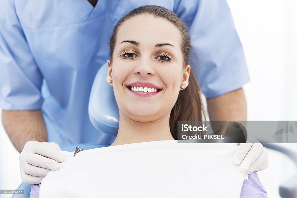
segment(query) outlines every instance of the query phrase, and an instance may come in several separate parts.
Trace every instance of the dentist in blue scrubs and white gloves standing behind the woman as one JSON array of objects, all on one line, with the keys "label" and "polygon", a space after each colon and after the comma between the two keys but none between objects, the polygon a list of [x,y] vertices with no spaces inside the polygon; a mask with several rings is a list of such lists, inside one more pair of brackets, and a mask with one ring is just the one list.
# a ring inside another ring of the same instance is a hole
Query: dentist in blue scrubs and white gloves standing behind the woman
[{"label": "dentist in blue scrubs and white gloves standing behind the woman", "polygon": [[[210,119],[247,119],[242,86],[249,75],[225,0],[1,1],[0,107],[4,128],[21,152],[24,183],[40,183],[59,168],[61,145],[113,142],[115,137],[91,124],[89,95],[98,69],[109,59],[115,24],[147,4],[173,10],[187,24],[192,57],[199,63],[192,68]],[[241,144],[233,162],[249,172],[263,170],[267,151]]]}]

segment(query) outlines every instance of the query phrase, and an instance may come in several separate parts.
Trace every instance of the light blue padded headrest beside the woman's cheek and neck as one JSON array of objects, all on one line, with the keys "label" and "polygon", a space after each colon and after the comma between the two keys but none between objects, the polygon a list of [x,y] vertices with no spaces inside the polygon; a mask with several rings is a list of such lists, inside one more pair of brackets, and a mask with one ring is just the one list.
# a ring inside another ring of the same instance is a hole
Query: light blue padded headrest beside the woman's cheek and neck
[{"label": "light blue padded headrest beside the woman's cheek and neck", "polygon": [[105,63],[95,77],[89,99],[89,118],[96,129],[116,136],[119,129],[119,108],[113,87],[106,82],[107,72],[108,66]]}]

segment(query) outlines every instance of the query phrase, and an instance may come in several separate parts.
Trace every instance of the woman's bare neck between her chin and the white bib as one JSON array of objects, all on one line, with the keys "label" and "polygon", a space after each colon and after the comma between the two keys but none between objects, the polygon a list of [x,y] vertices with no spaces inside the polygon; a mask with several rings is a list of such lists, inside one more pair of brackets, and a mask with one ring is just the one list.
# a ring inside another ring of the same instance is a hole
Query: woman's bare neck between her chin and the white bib
[{"label": "woman's bare neck between her chin and the white bib", "polygon": [[119,131],[115,141],[110,146],[151,142],[158,140],[174,140],[170,133],[168,115],[151,122],[138,122],[120,115]]}]

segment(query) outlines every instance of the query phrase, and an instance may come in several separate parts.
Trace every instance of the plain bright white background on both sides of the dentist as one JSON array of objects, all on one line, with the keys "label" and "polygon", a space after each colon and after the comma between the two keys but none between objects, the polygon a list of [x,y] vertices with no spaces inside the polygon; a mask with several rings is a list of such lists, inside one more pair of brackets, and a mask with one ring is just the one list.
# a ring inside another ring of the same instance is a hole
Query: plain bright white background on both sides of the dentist
[{"label": "plain bright white background on both sides of the dentist", "polygon": [[[251,79],[244,85],[248,120],[297,120],[297,1],[227,1]],[[297,144],[289,146],[297,152]],[[16,189],[21,183],[18,156],[0,125],[0,189]],[[258,175],[268,196],[279,197],[278,185],[297,169],[276,151],[269,150],[269,161]]]}]

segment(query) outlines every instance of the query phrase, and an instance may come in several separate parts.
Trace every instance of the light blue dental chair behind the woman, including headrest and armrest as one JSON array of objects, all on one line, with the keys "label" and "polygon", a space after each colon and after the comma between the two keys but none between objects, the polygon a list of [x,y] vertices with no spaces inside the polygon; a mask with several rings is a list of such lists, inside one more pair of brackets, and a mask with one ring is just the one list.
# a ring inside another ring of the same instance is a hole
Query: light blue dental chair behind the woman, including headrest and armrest
[{"label": "light blue dental chair behind the woman, including headrest and armrest", "polygon": [[[113,94],[113,87],[106,82],[108,66],[103,65],[95,77],[89,100],[89,118],[91,123],[106,134],[116,136],[119,127],[119,110]],[[102,94],[104,93],[104,94]],[[108,105],[106,105],[108,104]],[[261,142],[261,141],[260,141]],[[71,144],[61,146],[62,151],[75,151],[75,147],[82,149],[92,149],[106,147],[106,144]],[[279,151],[290,157],[297,167],[297,153],[293,152],[281,144],[263,143],[263,146],[275,151]],[[24,194],[14,194],[13,198],[30,197],[31,185],[21,183],[17,188],[24,190]],[[283,198],[297,197],[297,174],[286,180],[279,186],[279,195]]]}]

